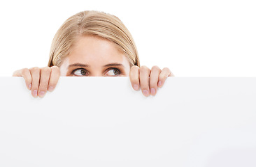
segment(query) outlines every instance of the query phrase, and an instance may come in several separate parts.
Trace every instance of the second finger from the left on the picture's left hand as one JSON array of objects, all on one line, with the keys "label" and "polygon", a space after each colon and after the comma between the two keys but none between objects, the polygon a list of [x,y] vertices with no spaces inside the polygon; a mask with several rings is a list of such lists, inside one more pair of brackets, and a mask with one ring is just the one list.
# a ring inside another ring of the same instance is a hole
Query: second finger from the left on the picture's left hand
[{"label": "second finger from the left on the picture's left hand", "polygon": [[31,94],[34,97],[37,97],[38,93],[38,84],[39,84],[39,79],[40,79],[40,69],[38,67],[32,67],[30,69],[30,74],[31,74]]}]

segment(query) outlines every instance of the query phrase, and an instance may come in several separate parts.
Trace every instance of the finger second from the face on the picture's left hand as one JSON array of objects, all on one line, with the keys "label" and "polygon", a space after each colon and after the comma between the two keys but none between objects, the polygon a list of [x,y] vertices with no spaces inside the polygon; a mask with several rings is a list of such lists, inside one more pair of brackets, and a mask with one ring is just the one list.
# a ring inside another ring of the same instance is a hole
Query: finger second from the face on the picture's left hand
[{"label": "finger second from the face on the picture's left hand", "polygon": [[40,70],[40,83],[38,89],[38,96],[43,97],[48,89],[50,79],[50,67],[43,67]]}]

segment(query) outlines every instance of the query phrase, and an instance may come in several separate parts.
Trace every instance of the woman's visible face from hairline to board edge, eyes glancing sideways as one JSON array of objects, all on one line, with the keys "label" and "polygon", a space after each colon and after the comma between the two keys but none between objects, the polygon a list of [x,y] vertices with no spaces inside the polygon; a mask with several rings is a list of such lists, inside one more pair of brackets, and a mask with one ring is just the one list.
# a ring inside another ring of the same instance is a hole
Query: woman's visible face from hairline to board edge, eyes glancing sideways
[{"label": "woman's visible face from hairline to board edge, eyes glancing sideways", "polygon": [[59,67],[61,76],[129,76],[130,63],[114,42],[97,35],[84,35],[71,47]]}]

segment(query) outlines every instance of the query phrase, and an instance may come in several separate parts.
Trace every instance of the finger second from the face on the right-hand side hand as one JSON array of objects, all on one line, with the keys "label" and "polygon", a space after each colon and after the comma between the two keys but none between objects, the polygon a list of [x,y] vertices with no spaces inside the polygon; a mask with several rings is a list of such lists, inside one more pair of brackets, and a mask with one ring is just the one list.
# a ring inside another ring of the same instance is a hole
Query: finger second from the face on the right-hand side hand
[{"label": "finger second from the face on the right-hand side hand", "polygon": [[148,97],[150,95],[149,90],[149,76],[150,76],[150,69],[146,66],[142,66],[139,69],[139,80],[141,84],[141,91],[143,95]]}]

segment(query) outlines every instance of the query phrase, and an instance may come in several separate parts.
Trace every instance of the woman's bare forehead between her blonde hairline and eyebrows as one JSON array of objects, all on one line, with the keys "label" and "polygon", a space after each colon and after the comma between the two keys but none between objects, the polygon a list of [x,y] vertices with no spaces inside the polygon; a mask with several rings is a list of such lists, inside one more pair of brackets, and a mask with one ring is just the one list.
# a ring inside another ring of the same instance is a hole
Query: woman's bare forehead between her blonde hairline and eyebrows
[{"label": "woman's bare forehead between her blonde hairline and eyebrows", "polygon": [[71,48],[69,56],[62,61],[65,66],[78,63],[94,67],[114,63],[129,65],[127,56],[120,51],[118,45],[95,35],[80,37]]}]

